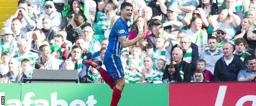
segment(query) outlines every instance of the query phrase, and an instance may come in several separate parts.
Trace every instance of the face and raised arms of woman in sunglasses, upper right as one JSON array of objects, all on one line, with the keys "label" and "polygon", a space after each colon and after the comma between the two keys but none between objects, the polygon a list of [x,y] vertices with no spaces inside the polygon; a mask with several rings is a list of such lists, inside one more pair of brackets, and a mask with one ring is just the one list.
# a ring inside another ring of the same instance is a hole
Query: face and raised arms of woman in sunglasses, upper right
[{"label": "face and raised arms of woman in sunglasses, upper right", "polygon": [[188,15],[186,15],[183,19],[183,23],[187,26],[187,27],[191,27],[190,23],[192,18],[200,18],[202,20],[202,29],[204,31],[206,31],[207,27],[209,26],[208,20],[205,16],[205,13],[203,11],[202,8],[197,8],[194,11],[192,11],[192,13],[189,13]]}]

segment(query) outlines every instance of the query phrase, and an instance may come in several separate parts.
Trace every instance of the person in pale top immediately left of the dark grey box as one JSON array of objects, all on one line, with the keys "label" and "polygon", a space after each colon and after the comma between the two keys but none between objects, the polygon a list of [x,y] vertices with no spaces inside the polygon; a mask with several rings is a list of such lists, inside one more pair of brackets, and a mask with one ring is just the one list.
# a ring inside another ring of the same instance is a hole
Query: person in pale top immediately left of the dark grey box
[{"label": "person in pale top immediately left of the dark grey box", "polygon": [[27,76],[27,78],[32,78],[33,70],[30,65],[30,60],[24,59],[21,61],[21,72]]}]

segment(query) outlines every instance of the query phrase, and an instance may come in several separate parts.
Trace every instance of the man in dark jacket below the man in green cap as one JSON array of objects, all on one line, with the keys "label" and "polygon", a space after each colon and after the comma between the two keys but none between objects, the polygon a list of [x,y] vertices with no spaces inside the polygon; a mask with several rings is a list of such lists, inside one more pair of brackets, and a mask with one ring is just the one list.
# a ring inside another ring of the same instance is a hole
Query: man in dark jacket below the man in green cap
[{"label": "man in dark jacket below the man in green cap", "polygon": [[43,29],[41,30],[46,35],[46,41],[50,42],[50,40],[53,40],[54,36],[56,36],[56,32],[51,28],[52,20],[49,17],[44,17],[42,21]]}]

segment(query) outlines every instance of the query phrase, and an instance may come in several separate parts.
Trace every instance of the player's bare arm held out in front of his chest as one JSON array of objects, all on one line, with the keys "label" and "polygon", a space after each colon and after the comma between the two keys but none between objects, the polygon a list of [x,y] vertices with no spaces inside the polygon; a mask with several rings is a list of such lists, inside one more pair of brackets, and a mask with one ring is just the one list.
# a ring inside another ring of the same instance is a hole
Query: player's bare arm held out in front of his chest
[{"label": "player's bare arm held out in front of his chest", "polygon": [[125,48],[125,47],[133,45],[138,40],[144,39],[145,36],[146,36],[146,32],[143,33],[142,31],[139,31],[136,38],[134,38],[132,40],[126,40],[126,36],[119,36],[119,41],[120,41],[122,47]]}]

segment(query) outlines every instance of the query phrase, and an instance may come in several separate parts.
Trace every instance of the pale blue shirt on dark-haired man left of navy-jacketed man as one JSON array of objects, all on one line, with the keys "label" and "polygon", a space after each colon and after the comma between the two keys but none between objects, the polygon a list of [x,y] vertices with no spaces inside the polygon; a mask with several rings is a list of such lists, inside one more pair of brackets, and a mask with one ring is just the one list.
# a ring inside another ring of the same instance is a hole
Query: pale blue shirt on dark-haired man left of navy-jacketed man
[{"label": "pale blue shirt on dark-haired man left of navy-jacketed man", "polygon": [[199,56],[199,59],[206,61],[206,69],[213,74],[214,66],[217,60],[219,60],[219,58],[221,58],[222,56],[223,56],[223,53],[221,50],[218,50],[218,52],[215,53],[213,56],[210,54],[209,50],[206,50]]}]

